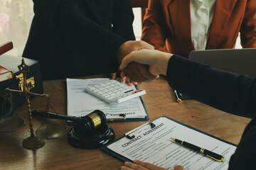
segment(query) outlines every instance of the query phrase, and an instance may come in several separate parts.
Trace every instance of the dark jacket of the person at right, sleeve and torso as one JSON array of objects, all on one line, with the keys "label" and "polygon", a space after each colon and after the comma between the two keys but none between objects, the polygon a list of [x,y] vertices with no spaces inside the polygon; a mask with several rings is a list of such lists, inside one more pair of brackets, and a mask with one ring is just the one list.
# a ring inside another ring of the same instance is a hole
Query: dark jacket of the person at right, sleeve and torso
[{"label": "dark jacket of the person at right, sleeve and torso", "polygon": [[197,101],[252,118],[230,159],[229,169],[256,169],[256,79],[213,69],[177,55],[169,61],[166,79],[172,88]]}]

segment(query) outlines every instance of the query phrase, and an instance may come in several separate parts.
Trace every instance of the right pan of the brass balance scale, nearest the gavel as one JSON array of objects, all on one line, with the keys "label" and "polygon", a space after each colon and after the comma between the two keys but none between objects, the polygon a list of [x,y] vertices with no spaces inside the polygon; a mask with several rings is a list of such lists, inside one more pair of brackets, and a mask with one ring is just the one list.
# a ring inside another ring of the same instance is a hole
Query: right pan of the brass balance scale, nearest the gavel
[{"label": "right pan of the brass balance scale, nearest the gavel", "polygon": [[36,130],[36,135],[42,139],[53,140],[58,137],[63,137],[68,132],[68,128],[64,125],[50,123],[47,125],[41,125]]}]

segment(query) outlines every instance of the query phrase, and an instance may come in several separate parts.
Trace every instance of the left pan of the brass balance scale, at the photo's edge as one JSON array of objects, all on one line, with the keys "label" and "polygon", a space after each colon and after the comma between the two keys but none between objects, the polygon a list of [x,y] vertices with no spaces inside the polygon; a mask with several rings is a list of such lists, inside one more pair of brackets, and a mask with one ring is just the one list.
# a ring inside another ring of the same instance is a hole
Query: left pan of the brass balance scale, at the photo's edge
[{"label": "left pan of the brass balance scale, at the photo's edge", "polygon": [[0,132],[12,132],[25,125],[25,120],[18,117],[7,117],[0,119]]}]

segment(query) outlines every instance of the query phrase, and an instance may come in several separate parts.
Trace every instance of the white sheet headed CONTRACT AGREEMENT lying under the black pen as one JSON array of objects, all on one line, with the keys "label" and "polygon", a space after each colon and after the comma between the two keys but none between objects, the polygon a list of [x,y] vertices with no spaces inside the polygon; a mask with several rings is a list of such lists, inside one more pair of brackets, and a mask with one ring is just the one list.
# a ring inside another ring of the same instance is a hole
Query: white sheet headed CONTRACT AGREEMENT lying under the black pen
[{"label": "white sheet headed CONTRACT AGREEMENT lying under the black pen", "polygon": [[[234,145],[188,128],[186,125],[176,123],[166,117],[156,119],[152,123],[156,125],[154,128],[146,125],[130,134],[130,136],[134,135],[132,140],[123,137],[108,145],[106,148],[111,151],[108,150],[107,152],[109,154],[116,152],[132,161],[139,159],[166,169],[174,169],[176,164],[184,166],[186,170],[228,169],[228,162],[236,149]],[[226,157],[225,162],[216,162],[199,152],[173,142],[170,137],[190,142],[198,147],[223,155]]]}]

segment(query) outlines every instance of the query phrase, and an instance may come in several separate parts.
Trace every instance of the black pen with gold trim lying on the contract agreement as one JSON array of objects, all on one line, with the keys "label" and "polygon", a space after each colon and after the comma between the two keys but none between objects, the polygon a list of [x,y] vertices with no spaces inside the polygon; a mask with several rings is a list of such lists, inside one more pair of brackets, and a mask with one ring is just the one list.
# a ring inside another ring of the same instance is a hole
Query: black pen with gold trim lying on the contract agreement
[{"label": "black pen with gold trim lying on the contract agreement", "polygon": [[214,159],[215,161],[218,161],[218,162],[224,162],[225,161],[225,157],[221,156],[220,154],[216,154],[214,152],[211,152],[208,149],[204,149],[202,147],[198,147],[198,146],[193,145],[191,143],[181,141],[181,140],[177,140],[177,139],[172,138],[172,137],[171,137],[171,140],[183,145],[184,147],[188,147],[189,149],[193,149],[195,151],[201,152],[202,154],[205,154],[207,157],[210,157],[211,159]]}]

